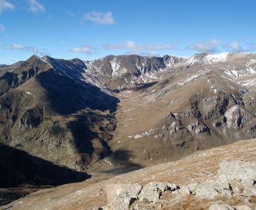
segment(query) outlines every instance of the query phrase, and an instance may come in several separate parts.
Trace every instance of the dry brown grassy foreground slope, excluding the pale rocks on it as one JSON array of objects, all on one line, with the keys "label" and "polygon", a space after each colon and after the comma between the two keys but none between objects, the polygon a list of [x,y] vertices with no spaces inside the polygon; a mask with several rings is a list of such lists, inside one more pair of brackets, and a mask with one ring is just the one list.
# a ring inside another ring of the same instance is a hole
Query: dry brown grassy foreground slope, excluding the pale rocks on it
[{"label": "dry brown grassy foreground slope, excluding the pale rocks on it", "polygon": [[[193,155],[175,162],[166,162],[145,169],[140,169],[127,174],[114,174],[113,178],[98,181],[96,176],[82,183],[59,186],[54,189],[39,190],[27,195],[5,207],[13,205],[14,209],[91,209],[105,207],[108,204],[105,187],[110,183],[139,183],[145,186],[152,181],[164,181],[185,186],[189,183],[202,183],[216,179],[219,163],[226,160],[256,161],[256,139],[239,141],[235,144],[197,151]],[[102,176],[109,176],[102,172]],[[99,177],[99,175],[98,175]],[[96,182],[96,183],[95,183]],[[243,197],[245,199],[247,197]],[[189,200],[186,200],[189,199]],[[205,209],[212,200],[186,197],[173,209]],[[215,200],[222,200],[217,197]],[[255,197],[250,197],[251,206],[256,204]],[[244,204],[243,201],[234,199],[225,200],[226,203]],[[233,205],[232,204],[232,205]],[[3,207],[3,208],[5,208]]]}]

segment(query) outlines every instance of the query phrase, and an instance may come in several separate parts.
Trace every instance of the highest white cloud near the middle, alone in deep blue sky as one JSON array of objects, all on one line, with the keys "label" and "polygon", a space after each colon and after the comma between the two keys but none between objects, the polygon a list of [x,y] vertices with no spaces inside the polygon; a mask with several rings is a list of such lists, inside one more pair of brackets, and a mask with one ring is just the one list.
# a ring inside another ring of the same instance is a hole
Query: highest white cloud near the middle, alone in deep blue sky
[{"label": "highest white cloud near the middle, alone in deep blue sky", "polygon": [[81,19],[81,23],[85,20],[91,20],[92,22],[100,25],[113,25],[115,24],[115,20],[111,12],[108,13],[101,13],[97,11],[91,11],[91,13],[86,13],[83,15]]}]

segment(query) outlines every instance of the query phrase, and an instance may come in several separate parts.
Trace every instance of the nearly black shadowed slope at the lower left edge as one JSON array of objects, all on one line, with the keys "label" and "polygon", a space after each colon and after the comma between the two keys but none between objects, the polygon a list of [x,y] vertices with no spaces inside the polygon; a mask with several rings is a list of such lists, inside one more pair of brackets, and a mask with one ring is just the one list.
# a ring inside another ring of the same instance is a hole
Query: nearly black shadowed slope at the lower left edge
[{"label": "nearly black shadowed slope at the lower left edge", "polygon": [[60,186],[89,178],[85,173],[53,165],[4,144],[0,144],[0,154],[0,188],[20,185]]}]

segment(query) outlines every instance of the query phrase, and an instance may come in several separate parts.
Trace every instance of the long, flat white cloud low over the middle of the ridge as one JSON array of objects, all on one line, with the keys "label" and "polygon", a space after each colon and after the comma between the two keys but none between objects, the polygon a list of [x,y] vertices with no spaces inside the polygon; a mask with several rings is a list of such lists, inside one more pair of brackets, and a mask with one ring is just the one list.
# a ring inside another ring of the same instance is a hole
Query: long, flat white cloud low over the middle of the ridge
[{"label": "long, flat white cloud low over the middle of the ridge", "polygon": [[133,41],[124,41],[123,43],[119,43],[117,45],[114,44],[105,44],[103,45],[107,50],[115,50],[115,49],[127,49],[127,50],[172,50],[174,49],[174,45],[171,43],[167,43],[165,45],[145,45],[145,44],[136,44]]}]

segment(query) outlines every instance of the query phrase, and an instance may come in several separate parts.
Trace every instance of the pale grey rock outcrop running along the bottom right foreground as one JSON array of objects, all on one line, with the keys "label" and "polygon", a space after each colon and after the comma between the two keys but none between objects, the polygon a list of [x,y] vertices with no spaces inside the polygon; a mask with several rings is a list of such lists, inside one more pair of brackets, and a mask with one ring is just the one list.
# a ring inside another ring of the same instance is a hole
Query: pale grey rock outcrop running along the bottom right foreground
[{"label": "pale grey rock outcrop running along the bottom right foreground", "polygon": [[[188,195],[208,200],[210,210],[250,209],[245,205],[250,203],[246,197],[256,195],[255,183],[256,162],[222,162],[216,181],[190,183],[188,186],[165,182],[151,182],[146,186],[137,183],[108,185],[106,191],[109,204],[103,209],[143,209],[147,202],[150,202],[153,209],[162,209],[164,206],[172,207],[175,203],[185,200]],[[231,207],[222,200],[215,201],[217,196],[226,199],[236,199],[236,196],[240,196],[245,204]]]}]

